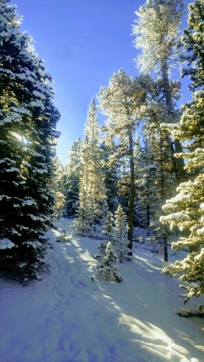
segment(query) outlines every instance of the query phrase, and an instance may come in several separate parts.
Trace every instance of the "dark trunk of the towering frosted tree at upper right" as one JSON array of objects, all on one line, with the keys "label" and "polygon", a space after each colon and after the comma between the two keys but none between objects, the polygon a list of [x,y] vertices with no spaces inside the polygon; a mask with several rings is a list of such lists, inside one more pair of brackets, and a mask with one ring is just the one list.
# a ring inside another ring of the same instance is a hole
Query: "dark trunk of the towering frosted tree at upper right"
[{"label": "dark trunk of the towering frosted tree at upper right", "polygon": [[[161,74],[162,74],[162,80],[163,80],[163,88],[166,93],[166,106],[168,108],[168,113],[170,115],[173,115],[174,104],[172,101],[172,92],[171,92],[171,88],[170,88],[170,80],[168,77],[168,64],[167,64],[166,60],[163,60],[163,64],[161,65]],[[172,143],[172,141],[170,141],[170,142]],[[174,140],[174,142],[172,143],[172,150],[178,154],[180,152],[183,152],[181,143],[177,140]],[[176,158],[174,165],[176,166],[175,173],[176,173],[177,181],[178,181],[178,183],[180,183],[186,179],[183,158]]]}]

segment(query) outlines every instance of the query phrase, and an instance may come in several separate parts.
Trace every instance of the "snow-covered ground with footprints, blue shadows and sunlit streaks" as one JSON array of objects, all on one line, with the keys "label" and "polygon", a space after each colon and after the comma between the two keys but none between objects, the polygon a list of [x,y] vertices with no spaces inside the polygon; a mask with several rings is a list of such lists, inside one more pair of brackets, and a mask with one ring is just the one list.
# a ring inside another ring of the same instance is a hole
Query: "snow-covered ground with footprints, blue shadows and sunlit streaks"
[{"label": "snow-covered ground with footprints, blue shadows and sunlit streaks", "polygon": [[[203,362],[204,322],[176,315],[179,283],[161,275],[162,261],[136,250],[120,265],[122,283],[91,280],[100,241],[56,243],[41,282],[0,280],[1,362]],[[188,302],[188,308],[200,301]]]}]

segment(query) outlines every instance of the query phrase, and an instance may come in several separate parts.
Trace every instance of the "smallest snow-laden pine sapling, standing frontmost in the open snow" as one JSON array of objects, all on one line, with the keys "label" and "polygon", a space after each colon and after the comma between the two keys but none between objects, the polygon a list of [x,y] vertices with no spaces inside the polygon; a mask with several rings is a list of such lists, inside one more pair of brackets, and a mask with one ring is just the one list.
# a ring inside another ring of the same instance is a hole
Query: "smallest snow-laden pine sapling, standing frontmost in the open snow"
[{"label": "smallest snow-laden pine sapling, standing frontmost in the open snow", "polygon": [[116,263],[118,263],[117,252],[115,252],[111,241],[109,241],[106,246],[106,254],[97,267],[96,276],[103,275],[104,280],[109,282],[114,280],[122,282],[123,278],[115,265]]}]

